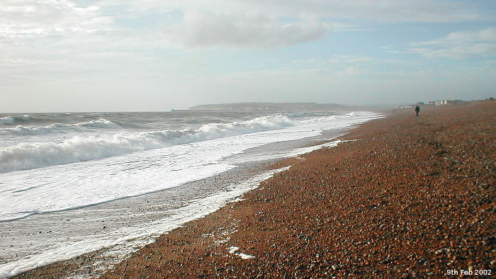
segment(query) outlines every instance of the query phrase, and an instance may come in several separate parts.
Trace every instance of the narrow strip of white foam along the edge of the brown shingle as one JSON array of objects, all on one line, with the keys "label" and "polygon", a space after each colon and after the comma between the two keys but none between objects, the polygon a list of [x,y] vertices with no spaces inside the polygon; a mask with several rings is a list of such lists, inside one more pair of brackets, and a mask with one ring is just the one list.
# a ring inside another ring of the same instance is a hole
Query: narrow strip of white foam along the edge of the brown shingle
[{"label": "narrow strip of white foam along the edge of the brown shingle", "polygon": [[[30,271],[40,266],[50,263],[74,258],[91,251],[108,248],[111,246],[121,246],[121,253],[133,251],[139,247],[150,244],[154,238],[159,237],[164,232],[180,227],[181,224],[204,217],[220,209],[226,203],[230,203],[240,195],[249,190],[257,188],[261,181],[264,181],[275,173],[286,170],[286,168],[267,171],[261,175],[254,176],[248,181],[233,185],[227,192],[216,193],[208,198],[192,200],[189,205],[173,210],[171,215],[146,224],[142,227],[121,227],[105,234],[95,234],[90,239],[83,239],[72,244],[54,245],[53,249],[42,251],[18,261],[0,264],[0,278],[9,278],[20,273]],[[249,255],[247,255],[249,256]]]}]

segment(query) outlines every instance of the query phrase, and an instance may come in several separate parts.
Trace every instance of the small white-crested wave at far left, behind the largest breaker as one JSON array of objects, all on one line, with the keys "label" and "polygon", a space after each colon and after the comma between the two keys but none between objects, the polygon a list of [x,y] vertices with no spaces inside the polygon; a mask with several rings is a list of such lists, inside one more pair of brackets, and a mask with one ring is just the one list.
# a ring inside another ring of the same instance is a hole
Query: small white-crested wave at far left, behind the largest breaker
[{"label": "small white-crested wave at far left, behind the largest breaker", "polygon": [[50,132],[80,131],[81,129],[119,129],[120,126],[106,119],[91,120],[77,124],[54,123],[47,126],[22,126],[0,129],[0,135],[44,135]]}]

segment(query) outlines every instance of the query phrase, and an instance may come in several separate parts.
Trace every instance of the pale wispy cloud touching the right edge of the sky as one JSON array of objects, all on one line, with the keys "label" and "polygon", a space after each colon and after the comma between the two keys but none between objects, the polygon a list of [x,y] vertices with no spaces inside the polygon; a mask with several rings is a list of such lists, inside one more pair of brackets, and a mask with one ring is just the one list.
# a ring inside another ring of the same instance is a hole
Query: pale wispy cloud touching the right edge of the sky
[{"label": "pale wispy cloud touching the right edge of the sky", "polygon": [[415,42],[410,52],[424,57],[449,57],[462,59],[470,56],[495,56],[496,28],[487,28],[478,32],[455,32],[444,38],[427,42]]}]

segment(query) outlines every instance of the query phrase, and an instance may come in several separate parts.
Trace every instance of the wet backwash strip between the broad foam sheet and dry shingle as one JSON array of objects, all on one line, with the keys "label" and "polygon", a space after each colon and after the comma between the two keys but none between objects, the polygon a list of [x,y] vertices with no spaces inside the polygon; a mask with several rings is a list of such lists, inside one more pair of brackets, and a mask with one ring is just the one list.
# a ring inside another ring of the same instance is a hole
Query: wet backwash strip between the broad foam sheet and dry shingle
[{"label": "wet backwash strip between the broad foam sheet and dry shingle", "polygon": [[[174,188],[77,210],[34,215],[21,222],[6,222],[1,229],[9,234],[3,235],[4,239],[13,239],[11,244],[14,244],[16,238],[24,239],[16,242],[21,249],[17,249],[17,245],[6,247],[6,253],[0,257],[0,278],[19,275],[43,266],[71,266],[63,273],[66,277],[98,277],[133,251],[152,243],[161,234],[180,227],[189,220],[208,215],[226,202],[236,200],[245,190],[258,186],[260,179],[257,177],[267,178],[265,174],[273,172],[269,165],[275,161],[320,148],[314,144],[343,135],[353,125],[331,125],[332,129],[321,130],[320,134],[314,132],[313,137],[246,149],[225,160],[227,164],[235,166],[234,169]],[[257,179],[253,181],[253,178]],[[195,206],[190,206],[191,204]],[[70,237],[77,237],[77,233],[70,231],[71,228],[77,229],[83,236],[90,235],[90,238],[79,238],[70,243]],[[21,234],[13,235],[16,232]],[[30,237],[34,234],[36,237]],[[45,236],[50,237],[50,240],[43,241]],[[41,249],[33,250],[33,244]],[[13,257],[21,260],[9,261]]]}]

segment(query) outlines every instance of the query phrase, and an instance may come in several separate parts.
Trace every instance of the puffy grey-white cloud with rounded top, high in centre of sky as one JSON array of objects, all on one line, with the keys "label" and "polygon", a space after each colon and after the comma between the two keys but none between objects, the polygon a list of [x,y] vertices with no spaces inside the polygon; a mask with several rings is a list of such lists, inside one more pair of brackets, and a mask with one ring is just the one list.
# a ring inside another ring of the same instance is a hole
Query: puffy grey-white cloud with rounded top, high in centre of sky
[{"label": "puffy grey-white cloud with rounded top, high in centre of sky", "polygon": [[188,47],[274,47],[322,38],[331,26],[318,16],[303,13],[297,21],[281,23],[258,12],[210,13],[187,11],[184,22],[165,30],[173,44]]}]

